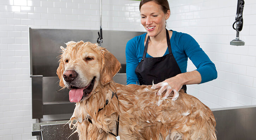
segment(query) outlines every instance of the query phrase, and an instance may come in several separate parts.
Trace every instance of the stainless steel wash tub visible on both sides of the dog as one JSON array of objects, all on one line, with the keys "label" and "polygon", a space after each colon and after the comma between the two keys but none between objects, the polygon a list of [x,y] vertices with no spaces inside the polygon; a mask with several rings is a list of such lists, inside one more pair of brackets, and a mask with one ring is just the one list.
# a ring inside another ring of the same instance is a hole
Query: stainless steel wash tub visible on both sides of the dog
[{"label": "stainless steel wash tub visible on both sides of the dog", "polygon": [[[255,140],[256,105],[217,108],[212,109],[212,111],[217,123],[218,140]],[[33,124],[32,135],[41,135],[40,125],[42,128],[43,124],[45,130],[43,130],[42,134],[47,134],[47,136],[43,136],[47,140],[66,139],[72,133],[68,125],[65,125],[66,122],[54,121]],[[72,139],[76,140],[77,135],[73,136]]]}]

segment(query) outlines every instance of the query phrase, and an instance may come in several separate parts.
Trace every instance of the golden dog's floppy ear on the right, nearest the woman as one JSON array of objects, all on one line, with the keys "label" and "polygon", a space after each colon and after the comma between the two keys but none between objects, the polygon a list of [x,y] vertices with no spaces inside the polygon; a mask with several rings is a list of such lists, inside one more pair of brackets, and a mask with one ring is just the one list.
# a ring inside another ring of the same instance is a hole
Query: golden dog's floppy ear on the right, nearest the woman
[{"label": "golden dog's floppy ear on the right, nearest the woman", "polygon": [[120,62],[115,56],[107,51],[105,48],[101,48],[102,53],[102,66],[100,74],[100,82],[102,85],[107,84],[117,74],[121,68]]}]

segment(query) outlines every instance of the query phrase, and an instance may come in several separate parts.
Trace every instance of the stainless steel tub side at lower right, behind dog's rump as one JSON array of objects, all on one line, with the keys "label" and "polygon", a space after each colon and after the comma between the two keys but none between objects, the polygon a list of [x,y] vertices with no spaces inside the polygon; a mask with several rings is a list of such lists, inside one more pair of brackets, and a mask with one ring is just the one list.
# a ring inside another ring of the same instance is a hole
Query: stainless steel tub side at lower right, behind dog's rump
[{"label": "stainless steel tub side at lower right, behind dog's rump", "polygon": [[218,140],[255,140],[256,106],[220,108],[213,111]]}]

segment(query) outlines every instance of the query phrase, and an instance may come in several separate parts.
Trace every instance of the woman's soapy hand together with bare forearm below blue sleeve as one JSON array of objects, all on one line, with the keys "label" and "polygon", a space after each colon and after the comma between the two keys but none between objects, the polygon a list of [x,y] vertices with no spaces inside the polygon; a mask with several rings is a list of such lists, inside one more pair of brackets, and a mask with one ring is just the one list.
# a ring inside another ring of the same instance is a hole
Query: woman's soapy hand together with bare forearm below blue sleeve
[{"label": "woman's soapy hand together with bare forearm below blue sleeve", "polygon": [[201,74],[198,71],[186,72],[178,74],[172,78],[168,78],[165,81],[162,81],[158,84],[153,84],[152,89],[159,88],[159,91],[156,95],[162,95],[164,91],[166,91],[163,99],[166,99],[171,92],[173,91],[174,95],[172,100],[176,100],[179,96],[179,91],[183,85],[190,85],[190,84],[200,84],[201,83]]}]

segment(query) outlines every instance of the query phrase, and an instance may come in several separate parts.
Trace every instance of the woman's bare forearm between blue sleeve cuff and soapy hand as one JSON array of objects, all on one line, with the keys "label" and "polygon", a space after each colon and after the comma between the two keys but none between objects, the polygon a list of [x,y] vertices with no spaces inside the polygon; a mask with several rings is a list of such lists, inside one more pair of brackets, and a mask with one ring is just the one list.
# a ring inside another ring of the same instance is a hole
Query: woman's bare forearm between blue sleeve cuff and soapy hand
[{"label": "woman's bare forearm between blue sleeve cuff and soapy hand", "polygon": [[201,74],[198,71],[180,73],[176,75],[183,85],[200,84],[202,81]]}]

